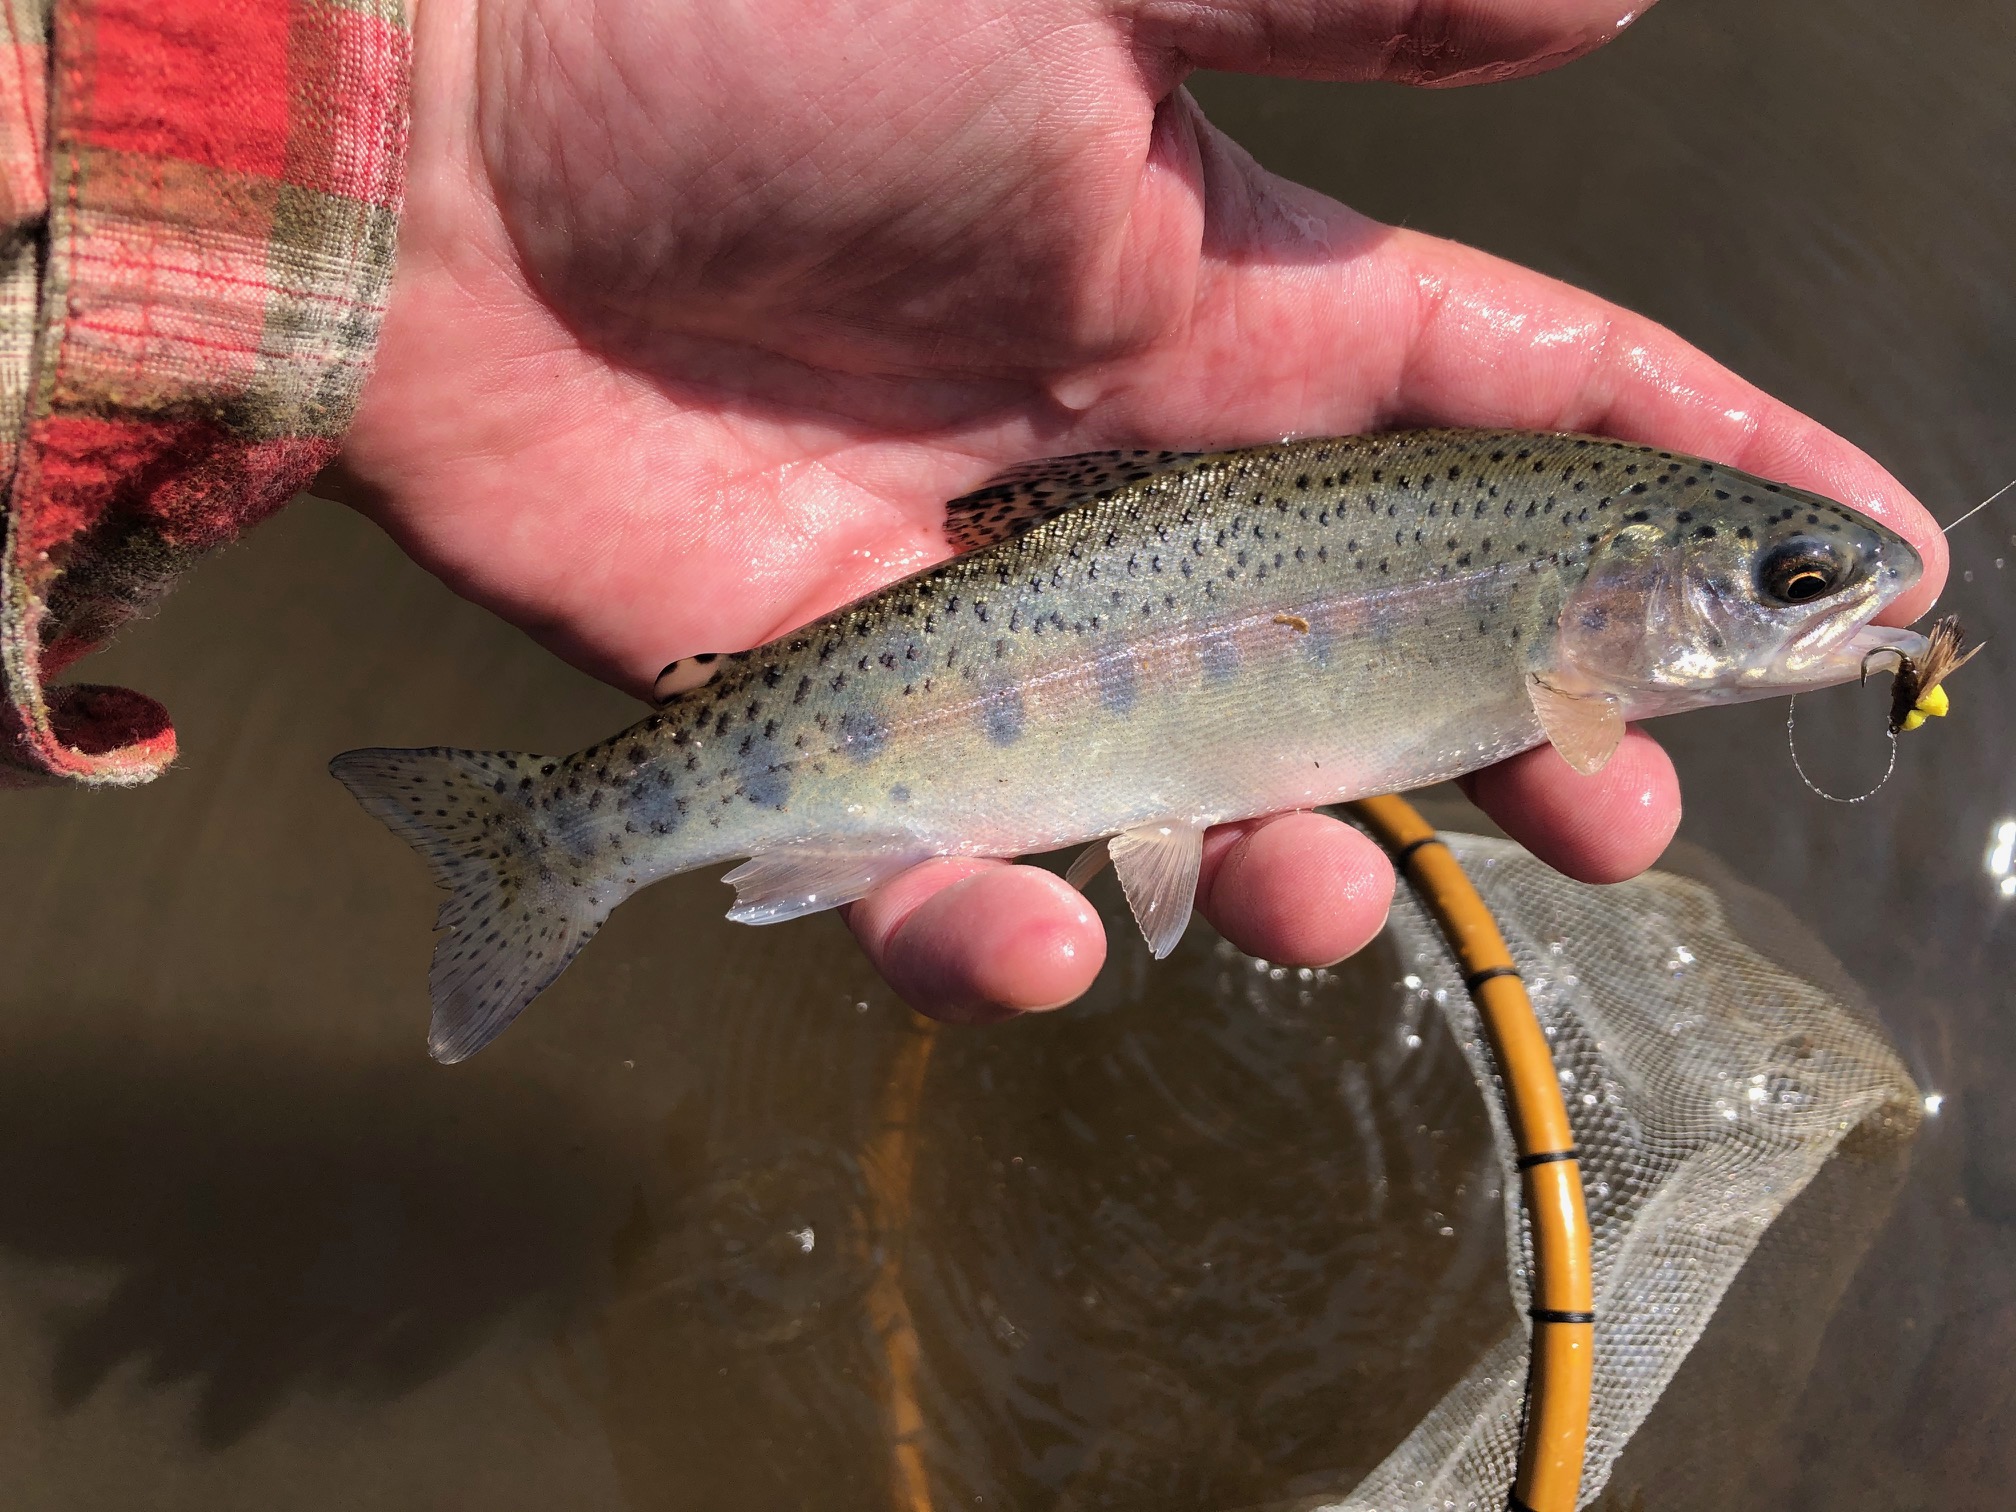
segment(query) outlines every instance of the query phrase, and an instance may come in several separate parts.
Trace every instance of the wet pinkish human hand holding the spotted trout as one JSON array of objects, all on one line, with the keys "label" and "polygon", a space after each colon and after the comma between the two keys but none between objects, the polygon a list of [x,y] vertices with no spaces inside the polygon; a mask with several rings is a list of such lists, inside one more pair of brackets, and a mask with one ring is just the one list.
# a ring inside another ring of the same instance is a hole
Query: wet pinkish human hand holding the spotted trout
[{"label": "wet pinkish human hand holding the spotted trout", "polygon": [[[353,492],[458,593],[643,694],[946,554],[1008,462],[1405,423],[1603,431],[1943,538],[1875,462],[1671,333],[1256,167],[1193,67],[1445,85],[1607,40],[1593,0],[423,0],[407,218]],[[1619,879],[1679,818],[1643,734],[1472,796]],[[1393,875],[1318,814],[1232,825],[1198,903],[1337,960]],[[935,861],[851,909],[946,1018],[1079,996],[1105,956],[1056,877]]]}]

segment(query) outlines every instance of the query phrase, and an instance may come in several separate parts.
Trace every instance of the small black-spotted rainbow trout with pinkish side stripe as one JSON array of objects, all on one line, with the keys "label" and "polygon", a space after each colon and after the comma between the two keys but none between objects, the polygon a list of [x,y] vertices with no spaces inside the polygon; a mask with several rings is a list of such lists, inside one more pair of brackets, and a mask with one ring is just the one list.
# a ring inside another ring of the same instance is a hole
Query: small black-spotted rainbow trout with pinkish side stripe
[{"label": "small black-spotted rainbow trout with pinkish side stripe", "polygon": [[1208,825],[1439,782],[1639,720],[1857,677],[1923,637],[1871,518],[1587,437],[1413,431],[1028,464],[948,506],[960,556],[575,756],[353,750],[331,770],[450,891],[431,1048],[488,1044],[639,887],[746,857],[732,919],[941,855],[1103,841],[1155,956]]}]

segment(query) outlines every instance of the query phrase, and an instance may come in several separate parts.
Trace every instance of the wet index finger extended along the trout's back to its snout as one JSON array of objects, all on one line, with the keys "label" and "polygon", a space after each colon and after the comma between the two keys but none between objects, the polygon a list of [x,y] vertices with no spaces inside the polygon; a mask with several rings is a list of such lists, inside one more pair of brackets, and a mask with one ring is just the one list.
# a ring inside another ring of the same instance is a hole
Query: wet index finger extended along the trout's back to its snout
[{"label": "wet index finger extended along the trout's back to its snout", "polygon": [[1641,314],[1381,226],[1266,173],[1187,103],[1171,109],[1191,111],[1191,179],[1161,175],[1151,194],[1202,202],[1195,298],[1179,339],[1117,365],[1087,415],[1099,433],[1189,446],[1397,425],[1613,435],[1806,488],[1887,524],[1925,573],[1883,623],[1905,625],[1937,599],[1945,536],[1841,435]]}]

